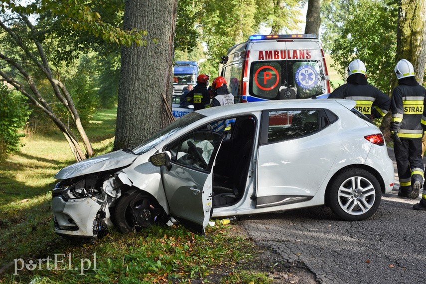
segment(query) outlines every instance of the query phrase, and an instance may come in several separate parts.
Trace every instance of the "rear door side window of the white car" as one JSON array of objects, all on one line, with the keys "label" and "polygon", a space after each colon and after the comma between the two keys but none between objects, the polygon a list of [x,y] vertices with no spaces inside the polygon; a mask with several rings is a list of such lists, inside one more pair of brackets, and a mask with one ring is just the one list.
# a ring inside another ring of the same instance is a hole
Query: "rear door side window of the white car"
[{"label": "rear door side window of the white car", "polygon": [[319,110],[279,110],[269,112],[268,142],[310,135],[319,130]]}]

